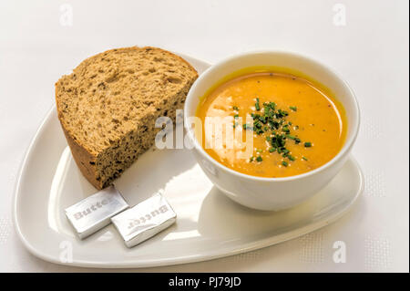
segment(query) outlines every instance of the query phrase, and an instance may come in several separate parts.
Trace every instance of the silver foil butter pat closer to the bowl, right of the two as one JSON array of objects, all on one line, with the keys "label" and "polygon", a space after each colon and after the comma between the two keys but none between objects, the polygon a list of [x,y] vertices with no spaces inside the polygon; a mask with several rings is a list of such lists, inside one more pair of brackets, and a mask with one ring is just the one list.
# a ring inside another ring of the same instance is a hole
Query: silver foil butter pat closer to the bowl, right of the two
[{"label": "silver foil butter pat closer to the bowl, right of the two", "polygon": [[175,223],[177,214],[161,194],[111,218],[128,247],[135,246]]}]

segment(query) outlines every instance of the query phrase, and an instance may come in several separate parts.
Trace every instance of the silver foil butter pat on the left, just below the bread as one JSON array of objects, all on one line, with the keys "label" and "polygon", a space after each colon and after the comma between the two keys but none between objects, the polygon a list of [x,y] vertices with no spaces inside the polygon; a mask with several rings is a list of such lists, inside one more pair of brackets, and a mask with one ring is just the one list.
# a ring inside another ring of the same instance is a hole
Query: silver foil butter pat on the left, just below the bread
[{"label": "silver foil butter pat on the left, just below the bread", "polygon": [[111,223],[111,217],[126,210],[128,203],[114,186],[109,186],[66,209],[68,221],[80,239]]}]

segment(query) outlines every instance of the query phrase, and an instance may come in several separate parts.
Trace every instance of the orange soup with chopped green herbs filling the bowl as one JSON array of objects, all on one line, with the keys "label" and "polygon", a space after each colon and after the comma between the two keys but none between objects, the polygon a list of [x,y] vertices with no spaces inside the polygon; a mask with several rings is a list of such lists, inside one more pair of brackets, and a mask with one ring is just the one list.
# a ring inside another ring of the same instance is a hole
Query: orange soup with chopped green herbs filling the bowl
[{"label": "orange soup with chopped green herbs filling the bowl", "polygon": [[[234,171],[277,178],[312,171],[330,161],[343,146],[343,112],[330,92],[311,81],[261,72],[211,89],[201,99],[197,117],[202,147],[213,159]],[[223,126],[210,130],[210,118]],[[246,132],[251,149],[243,147]]]}]

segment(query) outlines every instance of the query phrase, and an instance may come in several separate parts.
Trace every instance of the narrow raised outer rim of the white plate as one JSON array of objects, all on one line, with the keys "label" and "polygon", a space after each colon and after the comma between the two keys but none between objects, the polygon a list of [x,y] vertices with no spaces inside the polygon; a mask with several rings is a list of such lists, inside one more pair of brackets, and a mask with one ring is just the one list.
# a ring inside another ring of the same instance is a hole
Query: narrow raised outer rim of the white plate
[{"label": "narrow raised outer rim of the white plate", "polygon": [[[208,68],[210,68],[211,66],[209,62],[204,61],[200,58],[190,57],[186,54],[181,54],[181,53],[176,53],[176,54],[179,55],[180,57],[188,58],[190,60],[200,62],[206,65]],[[63,263],[59,261],[55,256],[43,253],[39,251],[33,244],[31,244],[28,241],[28,239],[26,239],[25,234],[23,234],[20,228],[20,225],[18,223],[18,219],[17,219],[17,202],[18,202],[18,197],[20,197],[21,195],[22,181],[24,180],[24,177],[26,176],[26,164],[28,162],[28,159],[30,158],[30,154],[33,151],[33,148],[36,145],[39,135],[42,133],[43,130],[45,130],[46,124],[52,120],[52,116],[53,116],[53,112],[55,108],[56,106],[52,105],[51,108],[48,109],[48,111],[46,112],[46,117],[41,121],[40,125],[38,126],[36,133],[34,134],[33,138],[31,139],[29,143],[29,146],[26,149],[24,159],[20,163],[18,176],[15,181],[14,195],[13,195],[13,200],[12,200],[12,203],[13,203],[13,206],[12,206],[12,218],[13,219],[12,220],[15,226],[15,232],[17,236],[19,237],[23,245],[26,247],[26,249],[29,251],[29,253],[31,253],[32,255],[35,255],[36,257],[39,257],[40,259],[43,259],[47,262],[54,263],[57,265],[92,267],[92,268],[143,268],[143,267],[156,267],[156,266],[165,266],[165,265],[181,265],[181,264],[189,264],[189,263],[199,263],[199,262],[214,260],[217,258],[227,257],[231,255],[238,255],[238,254],[242,254],[246,252],[251,252],[251,251],[265,248],[265,247],[268,247],[274,244],[281,244],[281,243],[287,242],[296,237],[302,236],[304,234],[309,234],[313,231],[319,230],[323,228],[324,226],[327,226],[337,221],[340,217],[342,217],[345,213],[348,213],[352,209],[352,206],[358,200],[358,197],[364,190],[363,171],[360,165],[358,164],[358,162],[354,159],[354,157],[350,155],[347,161],[352,161],[354,163],[354,166],[358,170],[359,183],[360,183],[359,188],[357,192],[355,193],[354,197],[349,201],[349,203],[343,207],[343,210],[326,217],[326,219],[324,220],[320,220],[315,223],[304,225],[301,228],[296,228],[284,234],[273,235],[271,237],[264,238],[261,241],[244,244],[242,245],[241,248],[238,248],[236,250],[231,250],[229,252],[223,252],[223,251],[220,251],[220,249],[218,249],[218,250],[209,252],[207,255],[186,255],[186,256],[179,256],[176,258],[166,258],[166,259],[149,260],[149,261],[146,260],[146,261],[140,261],[137,264],[136,262],[130,262],[130,261],[125,261],[123,263],[110,264],[109,262],[104,262],[104,261],[98,262],[98,261],[87,261],[87,260],[82,260],[82,259],[73,260],[73,262],[71,263]]]}]

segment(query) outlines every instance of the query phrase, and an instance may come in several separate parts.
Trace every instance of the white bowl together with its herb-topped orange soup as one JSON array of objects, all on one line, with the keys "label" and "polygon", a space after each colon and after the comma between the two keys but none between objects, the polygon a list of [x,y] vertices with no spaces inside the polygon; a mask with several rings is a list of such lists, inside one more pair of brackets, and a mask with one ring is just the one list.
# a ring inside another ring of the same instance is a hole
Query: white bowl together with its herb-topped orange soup
[{"label": "white bowl together with its herb-topped orange soup", "polygon": [[190,88],[184,124],[210,181],[277,211],[319,192],[343,167],[360,113],[354,92],[310,57],[261,51],[211,66]]}]

